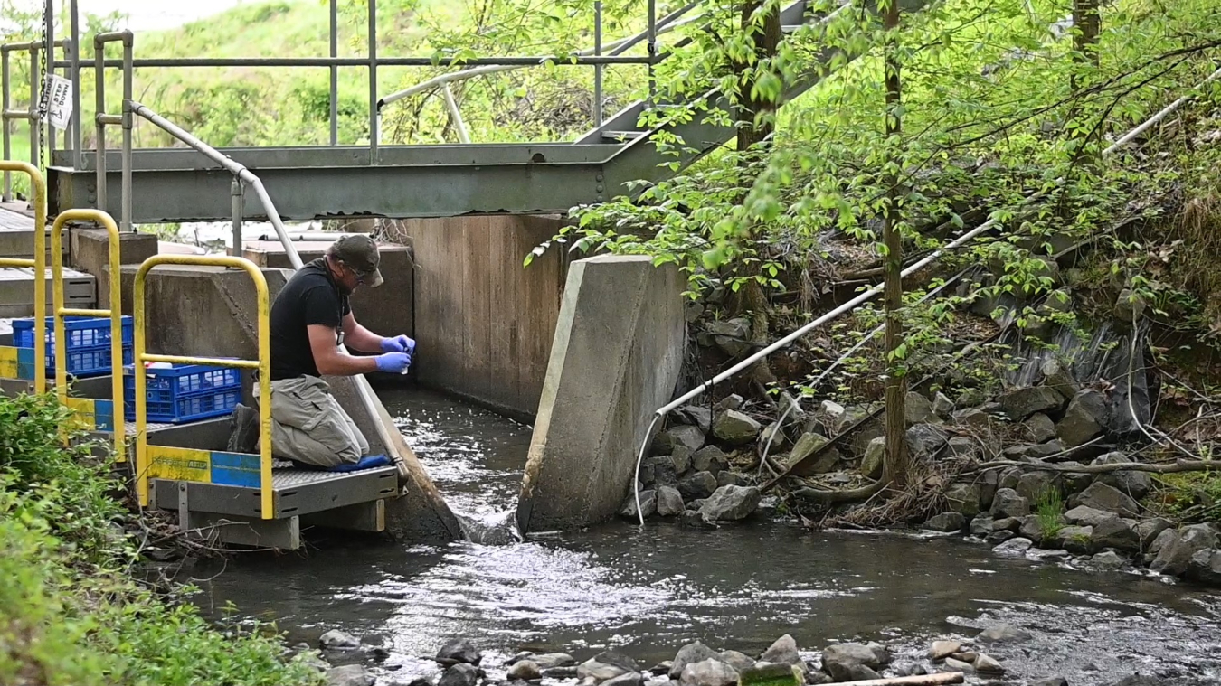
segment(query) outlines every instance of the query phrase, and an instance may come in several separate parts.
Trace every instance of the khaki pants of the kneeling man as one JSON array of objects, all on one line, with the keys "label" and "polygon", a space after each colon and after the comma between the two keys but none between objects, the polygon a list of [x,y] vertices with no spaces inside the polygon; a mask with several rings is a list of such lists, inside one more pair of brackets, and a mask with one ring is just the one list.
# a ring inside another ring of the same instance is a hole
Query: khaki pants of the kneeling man
[{"label": "khaki pants of the kneeling man", "polygon": [[[259,394],[258,383],[254,394]],[[359,461],[369,442],[325,381],[302,376],[271,382],[271,452],[330,468]]]}]

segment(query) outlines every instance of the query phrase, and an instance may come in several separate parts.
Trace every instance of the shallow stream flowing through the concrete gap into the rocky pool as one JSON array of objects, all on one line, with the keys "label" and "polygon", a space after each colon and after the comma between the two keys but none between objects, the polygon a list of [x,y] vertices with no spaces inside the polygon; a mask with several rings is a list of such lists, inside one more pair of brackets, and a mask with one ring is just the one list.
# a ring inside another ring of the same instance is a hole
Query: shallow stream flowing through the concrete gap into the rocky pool
[{"label": "shallow stream flowing through the concrete gap into the rocky pool", "polygon": [[[495,519],[512,509],[527,426],[422,391],[383,400],[455,510]],[[969,637],[994,621],[1035,634],[989,651],[1018,684],[1110,684],[1134,671],[1221,677],[1221,596],[1001,559],[960,538],[615,521],[504,546],[339,538],[225,564],[194,572],[215,575],[197,598],[205,609],[232,602],[294,642],[342,629],[385,646],[381,684],[435,673],[427,658],[454,637],[488,651],[495,676],[521,649],[586,659],[613,647],[647,666],[695,638],[757,654],[783,634],[810,657],[862,637],[921,659],[932,638]]]}]

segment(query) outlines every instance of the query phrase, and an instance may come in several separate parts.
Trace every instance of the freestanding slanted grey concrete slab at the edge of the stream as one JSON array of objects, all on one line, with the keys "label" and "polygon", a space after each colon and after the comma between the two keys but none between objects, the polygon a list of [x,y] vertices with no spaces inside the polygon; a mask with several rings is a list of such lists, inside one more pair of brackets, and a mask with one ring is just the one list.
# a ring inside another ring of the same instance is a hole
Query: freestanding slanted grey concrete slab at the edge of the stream
[{"label": "freestanding slanted grey concrete slab at the edge of the stream", "polygon": [[684,286],[678,269],[647,256],[573,262],[521,483],[523,531],[586,526],[619,509],[683,366]]}]

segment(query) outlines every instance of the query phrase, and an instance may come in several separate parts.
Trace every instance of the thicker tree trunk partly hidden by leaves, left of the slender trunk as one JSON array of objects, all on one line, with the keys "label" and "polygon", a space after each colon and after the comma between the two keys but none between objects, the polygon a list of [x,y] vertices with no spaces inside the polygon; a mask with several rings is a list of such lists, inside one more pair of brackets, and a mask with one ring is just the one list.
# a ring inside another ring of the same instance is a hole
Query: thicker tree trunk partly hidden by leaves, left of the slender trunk
[{"label": "thicker tree trunk partly hidden by leaves, left of the slender trunk", "polygon": [[[773,7],[773,11],[768,12],[762,27],[756,27],[751,21],[752,15],[763,6],[764,1],[747,0],[742,2],[741,28],[755,43],[755,63],[774,57],[777,48],[780,45],[780,7],[778,4]],[[740,153],[750,150],[756,144],[762,144],[766,149],[769,145],[764,142],[775,131],[773,116],[778,103],[774,99],[753,93],[755,78],[750,72],[752,66],[752,63],[746,62],[735,65],[737,73],[741,74],[741,94],[739,96],[736,116],[737,150]],[[759,115],[763,115],[763,117],[759,118]],[[746,186],[745,172],[742,186]],[[763,287],[755,280],[761,273],[759,262],[757,260],[750,262],[740,273],[741,276],[750,277],[750,281],[742,284],[739,306],[750,312],[752,347],[755,349],[767,347],[770,342],[769,305],[767,297],[763,294]],[[775,375],[772,372],[772,366],[766,359],[759,360],[751,369],[751,376],[764,386],[775,383]]]}]

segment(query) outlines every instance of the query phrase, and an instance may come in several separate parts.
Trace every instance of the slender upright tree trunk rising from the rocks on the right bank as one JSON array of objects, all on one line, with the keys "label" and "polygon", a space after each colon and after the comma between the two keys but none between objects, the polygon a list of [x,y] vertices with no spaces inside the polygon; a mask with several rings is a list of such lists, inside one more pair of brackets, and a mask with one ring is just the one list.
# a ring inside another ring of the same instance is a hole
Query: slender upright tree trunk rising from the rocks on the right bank
[{"label": "slender upright tree trunk rising from the rocks on the right bank", "polygon": [[886,132],[886,172],[883,175],[883,184],[886,188],[885,210],[882,217],[882,238],[886,254],[883,258],[885,267],[885,314],[886,314],[886,458],[883,463],[882,481],[890,486],[902,487],[907,481],[907,435],[905,420],[907,416],[907,375],[902,372],[901,361],[894,359],[895,350],[904,339],[904,322],[901,310],[904,306],[904,281],[901,271],[904,267],[904,244],[899,234],[900,203],[902,190],[899,188],[897,168],[901,160],[897,159],[899,137],[902,133],[902,121],[900,118],[900,103],[902,101],[902,87],[899,78],[899,0],[889,1],[883,16],[883,27],[886,31],[885,39],[885,79],[886,79],[886,107],[885,107],[885,132]]}]

